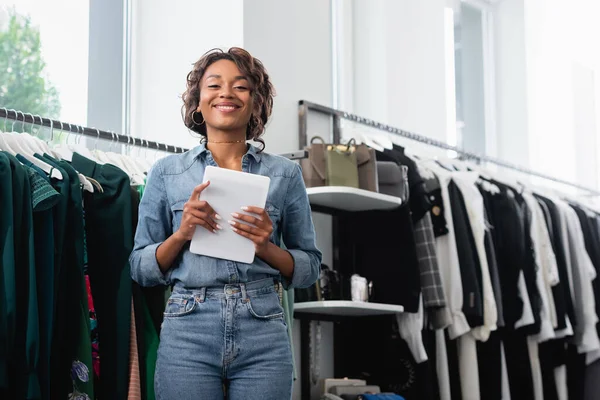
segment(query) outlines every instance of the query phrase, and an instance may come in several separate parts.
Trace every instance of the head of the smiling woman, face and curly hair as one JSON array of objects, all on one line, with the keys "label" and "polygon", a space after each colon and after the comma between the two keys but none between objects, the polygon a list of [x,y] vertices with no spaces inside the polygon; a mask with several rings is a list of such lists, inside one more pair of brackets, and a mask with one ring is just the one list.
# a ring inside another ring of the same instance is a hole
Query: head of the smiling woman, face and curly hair
[{"label": "head of the smiling woman, face and curly hair", "polygon": [[[214,49],[194,64],[187,77],[182,114],[185,125],[208,142],[252,139],[261,143],[271,111],[275,90],[262,63],[244,49],[232,47],[227,52]],[[207,136],[205,122],[215,128],[242,124],[245,137],[223,137],[218,129]]]}]

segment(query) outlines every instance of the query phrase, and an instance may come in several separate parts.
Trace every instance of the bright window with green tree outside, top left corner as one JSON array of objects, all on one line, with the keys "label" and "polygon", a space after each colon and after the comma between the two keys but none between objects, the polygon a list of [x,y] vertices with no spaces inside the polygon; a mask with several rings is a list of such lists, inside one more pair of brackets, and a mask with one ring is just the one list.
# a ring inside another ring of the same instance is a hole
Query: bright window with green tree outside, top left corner
[{"label": "bright window with green tree outside, top left corner", "polygon": [[7,3],[0,8],[0,107],[86,125],[89,1]]}]

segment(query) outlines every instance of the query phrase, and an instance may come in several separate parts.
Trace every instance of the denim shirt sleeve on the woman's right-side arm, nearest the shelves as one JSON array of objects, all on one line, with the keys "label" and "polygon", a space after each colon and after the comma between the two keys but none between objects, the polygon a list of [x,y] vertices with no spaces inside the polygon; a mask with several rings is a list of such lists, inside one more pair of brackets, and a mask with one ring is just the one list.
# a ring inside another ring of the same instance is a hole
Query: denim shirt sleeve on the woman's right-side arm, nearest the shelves
[{"label": "denim shirt sleeve on the woman's right-side arm, nearest the shelves", "polygon": [[283,286],[286,289],[308,287],[319,277],[322,254],[316,245],[308,195],[297,164],[290,178],[282,217],[283,243],[294,259],[292,279],[284,279]]}]

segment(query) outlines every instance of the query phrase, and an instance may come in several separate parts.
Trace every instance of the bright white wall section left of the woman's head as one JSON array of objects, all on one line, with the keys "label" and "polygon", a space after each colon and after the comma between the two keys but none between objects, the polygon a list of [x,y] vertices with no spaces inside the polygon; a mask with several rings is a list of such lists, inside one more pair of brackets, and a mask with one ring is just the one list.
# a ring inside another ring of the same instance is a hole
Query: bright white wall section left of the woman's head
[{"label": "bright white wall section left of the woman's head", "polygon": [[242,0],[132,0],[131,134],[198,144],[181,118],[181,94],[206,51],[243,45]]}]

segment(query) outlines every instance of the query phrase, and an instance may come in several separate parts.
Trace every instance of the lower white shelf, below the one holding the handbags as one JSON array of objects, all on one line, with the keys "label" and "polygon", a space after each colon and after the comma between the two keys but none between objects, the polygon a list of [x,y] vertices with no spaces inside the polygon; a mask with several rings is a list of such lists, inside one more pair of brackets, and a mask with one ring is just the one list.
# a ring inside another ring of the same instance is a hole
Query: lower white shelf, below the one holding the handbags
[{"label": "lower white shelf, below the one holding the handbags", "polygon": [[381,303],[363,303],[348,300],[307,301],[294,304],[296,318],[300,314],[311,314],[333,317],[366,317],[373,315],[396,314],[403,312],[403,306]]}]

